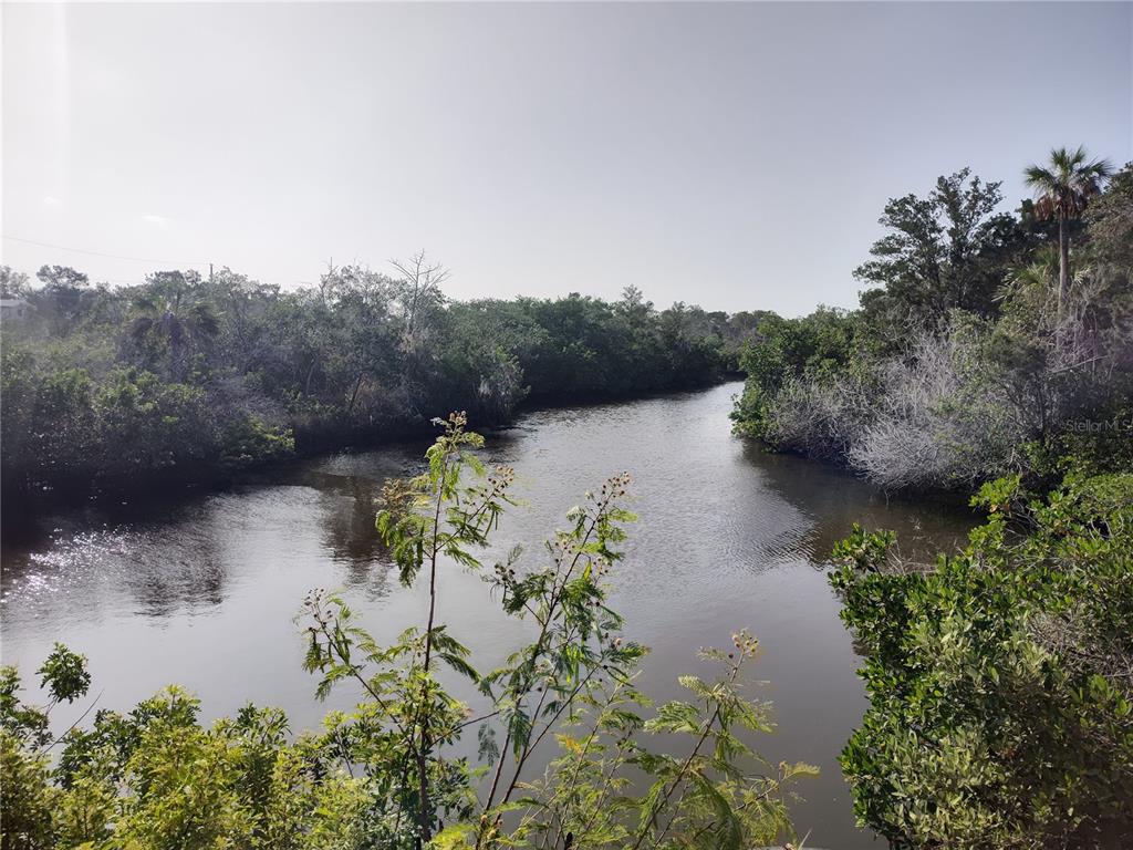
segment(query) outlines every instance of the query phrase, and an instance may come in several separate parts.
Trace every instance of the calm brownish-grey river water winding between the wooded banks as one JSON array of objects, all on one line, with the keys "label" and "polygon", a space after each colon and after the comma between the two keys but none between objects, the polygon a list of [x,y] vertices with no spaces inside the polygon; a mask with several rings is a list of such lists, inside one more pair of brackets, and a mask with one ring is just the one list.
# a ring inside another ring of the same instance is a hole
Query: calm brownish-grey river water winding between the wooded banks
[{"label": "calm brownish-grey river water winding between the wooded banks", "polygon": [[[753,674],[766,685],[756,695],[774,703],[778,724],[758,748],[773,763],[821,767],[798,788],[807,845],[880,848],[854,827],[835,760],[866,699],[823,567],[855,520],[895,529],[904,554],[927,556],[962,542],[971,519],[938,504],[887,503],[850,476],[733,437],[727,411],[739,389],[535,411],[489,435],[487,459],[516,467],[526,502],[496,541],[501,551],[527,544],[537,558],[583,491],[630,471],[640,521],[614,572],[612,604],[628,636],[653,648],[644,688],[678,696],[674,679],[696,669],[699,646],[726,646],[750,628],[764,651]],[[416,471],[423,449],[303,461],[223,493],[100,507],[23,529],[29,543],[3,553],[3,662],[31,678],[61,640],[88,656],[101,707],[129,708],[178,682],[199,696],[206,719],[250,699],[282,706],[296,729],[315,725],[355,695],[320,704],[300,669],[295,618],[310,588],[343,588],[380,639],[424,620],[424,588],[398,585],[373,528],[382,482]],[[438,604],[482,669],[523,637],[479,579],[455,568]],[[56,722],[86,705],[65,706]]]}]

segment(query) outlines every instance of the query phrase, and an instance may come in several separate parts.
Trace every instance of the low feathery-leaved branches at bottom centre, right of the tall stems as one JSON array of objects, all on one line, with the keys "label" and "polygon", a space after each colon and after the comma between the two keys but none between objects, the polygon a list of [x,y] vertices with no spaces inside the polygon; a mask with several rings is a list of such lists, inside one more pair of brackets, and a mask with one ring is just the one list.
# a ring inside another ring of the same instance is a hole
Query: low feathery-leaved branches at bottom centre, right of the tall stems
[{"label": "low feathery-leaved branches at bottom centre, right of the tall stems", "polygon": [[[740,682],[757,644],[746,632],[734,644],[731,653],[702,653],[722,668],[716,680],[681,677],[691,702],[665,703],[648,720],[649,702],[629,680],[588,696],[586,722],[557,736],[563,755],[544,779],[525,785],[522,818],[500,845],[740,850],[790,832],[781,789],[815,768],[783,763],[756,777],[736,770],[742,760],[758,763],[740,731],[770,725],[766,706],[749,700]],[[679,741],[678,754],[646,746],[654,734]],[[648,777],[644,794],[627,768]]]}]

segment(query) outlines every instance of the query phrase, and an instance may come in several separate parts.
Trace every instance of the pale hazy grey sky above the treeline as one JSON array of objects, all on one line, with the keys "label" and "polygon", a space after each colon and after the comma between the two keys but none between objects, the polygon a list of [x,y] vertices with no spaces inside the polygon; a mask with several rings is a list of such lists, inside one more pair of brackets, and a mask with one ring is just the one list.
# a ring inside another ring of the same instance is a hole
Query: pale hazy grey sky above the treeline
[{"label": "pale hazy grey sky above the treeline", "polygon": [[801,315],[889,197],[1133,159],[1128,2],[6,3],[2,45],[2,262],[111,283],[424,249],[454,298]]}]

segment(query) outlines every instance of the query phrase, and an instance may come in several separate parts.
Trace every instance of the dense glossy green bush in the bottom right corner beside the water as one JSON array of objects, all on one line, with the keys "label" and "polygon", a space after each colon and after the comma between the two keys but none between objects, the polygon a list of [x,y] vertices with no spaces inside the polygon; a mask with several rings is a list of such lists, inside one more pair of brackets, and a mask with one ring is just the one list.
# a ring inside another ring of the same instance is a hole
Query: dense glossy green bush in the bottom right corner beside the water
[{"label": "dense glossy green bush in the bottom right corner beside the water", "polygon": [[879,569],[892,535],[836,552],[868,653],[842,755],[855,811],[898,848],[1133,839],[1133,476],[1045,501],[1014,476],[973,503],[987,524],[929,571]]}]

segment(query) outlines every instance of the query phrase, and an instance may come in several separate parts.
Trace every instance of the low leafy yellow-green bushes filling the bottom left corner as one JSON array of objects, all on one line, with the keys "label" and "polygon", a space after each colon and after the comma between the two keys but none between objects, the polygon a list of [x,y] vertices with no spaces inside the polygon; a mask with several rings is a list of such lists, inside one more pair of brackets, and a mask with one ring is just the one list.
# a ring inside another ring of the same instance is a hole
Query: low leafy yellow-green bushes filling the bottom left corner
[{"label": "low leafy yellow-green bushes filling the bottom left corner", "polygon": [[[57,654],[65,652],[57,648]],[[274,709],[244,708],[205,729],[195,699],[170,688],[128,715],[99,712],[69,731],[49,767],[0,728],[5,847],[361,848],[365,783],[329,739],[289,742]]]}]

